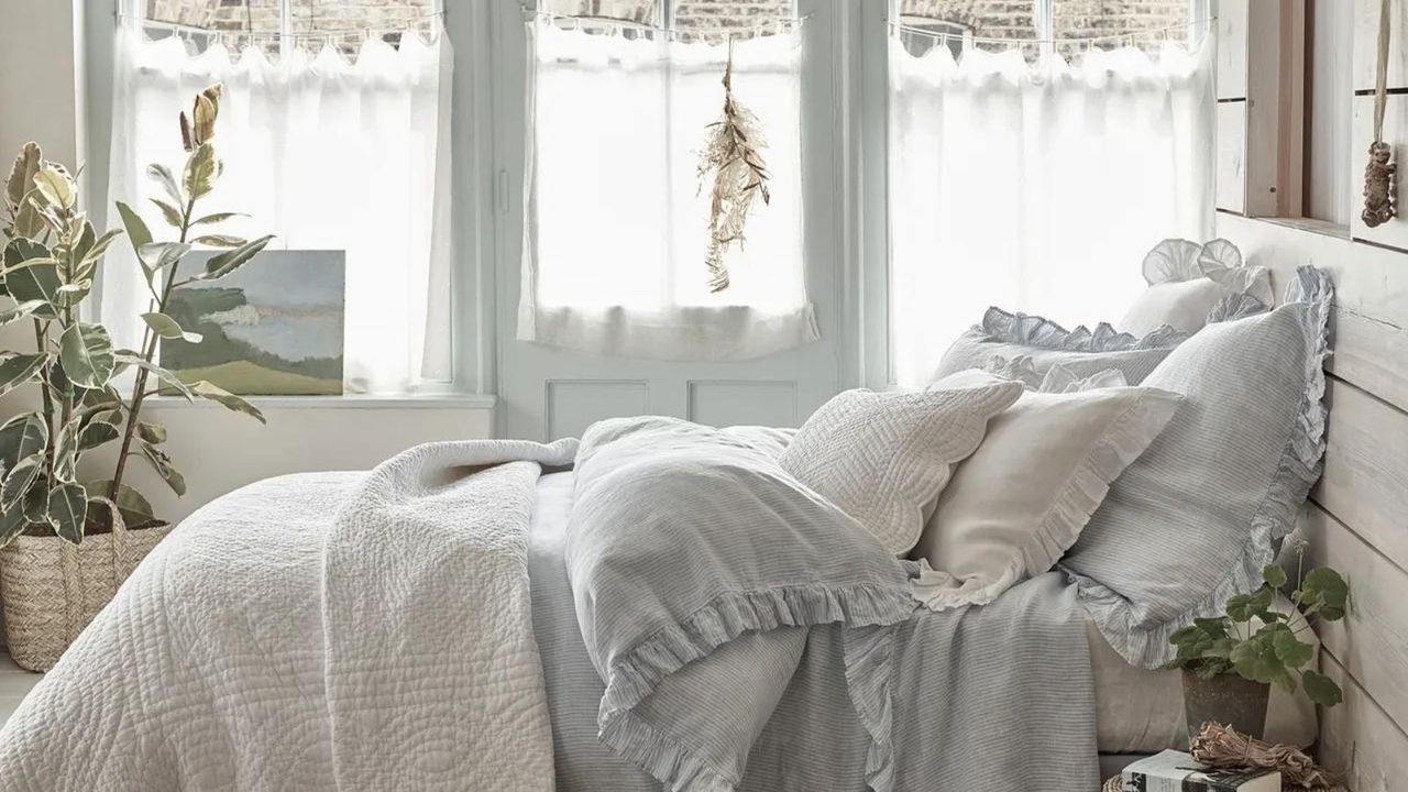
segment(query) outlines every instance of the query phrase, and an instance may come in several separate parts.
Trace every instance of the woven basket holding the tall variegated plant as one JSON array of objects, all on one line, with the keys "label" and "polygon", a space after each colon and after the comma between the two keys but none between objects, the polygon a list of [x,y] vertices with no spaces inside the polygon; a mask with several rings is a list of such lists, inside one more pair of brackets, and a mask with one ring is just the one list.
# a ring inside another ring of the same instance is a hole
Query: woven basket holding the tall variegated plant
[{"label": "woven basket holding the tall variegated plant", "polygon": [[6,643],[20,668],[48,671],[172,530],[118,527],[79,545],[56,537],[15,537],[0,550]]}]

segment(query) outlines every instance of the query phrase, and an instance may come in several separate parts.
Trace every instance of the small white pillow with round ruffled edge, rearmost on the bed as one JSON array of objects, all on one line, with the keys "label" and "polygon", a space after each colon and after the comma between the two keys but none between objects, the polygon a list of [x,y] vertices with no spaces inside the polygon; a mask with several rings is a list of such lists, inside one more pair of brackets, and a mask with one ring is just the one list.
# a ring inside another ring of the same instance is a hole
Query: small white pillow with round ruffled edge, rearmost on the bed
[{"label": "small white pillow with round ruffled edge, rearmost on the bed", "polygon": [[[1191,240],[1164,240],[1145,255],[1142,272],[1149,287],[1129,306],[1119,327],[1143,335],[1162,326],[1197,333],[1228,297],[1238,297],[1240,313],[1270,310],[1271,273],[1249,266],[1242,251],[1226,240],[1200,245]],[[1225,313],[1225,311],[1224,311]]]}]

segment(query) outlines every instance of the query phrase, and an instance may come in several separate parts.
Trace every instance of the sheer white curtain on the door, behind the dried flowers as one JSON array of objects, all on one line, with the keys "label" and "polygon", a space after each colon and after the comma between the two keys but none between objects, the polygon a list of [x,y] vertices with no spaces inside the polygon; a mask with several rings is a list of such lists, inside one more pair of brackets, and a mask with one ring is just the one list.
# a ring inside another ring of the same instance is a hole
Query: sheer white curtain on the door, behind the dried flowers
[{"label": "sheer white curtain on the door, behind the dried flowers", "polygon": [[518,338],[603,355],[745,359],[818,338],[801,247],[798,32],[735,41],[772,202],[711,295],[698,155],[724,109],[724,44],[529,25]]}]

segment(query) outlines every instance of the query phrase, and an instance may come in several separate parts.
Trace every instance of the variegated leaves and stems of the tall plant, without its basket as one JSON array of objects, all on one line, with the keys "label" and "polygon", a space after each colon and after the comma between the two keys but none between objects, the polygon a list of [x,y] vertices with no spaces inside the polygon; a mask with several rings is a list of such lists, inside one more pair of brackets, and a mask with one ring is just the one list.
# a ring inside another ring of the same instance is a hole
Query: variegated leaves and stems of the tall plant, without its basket
[{"label": "variegated leaves and stems of the tall plant, without its basket", "polygon": [[[183,383],[152,362],[161,338],[200,341],[166,316],[172,292],[234,272],[270,240],[207,233],[206,227],[234,214],[196,211],[221,173],[211,144],[218,109],[217,85],[196,97],[190,118],[180,114],[187,152],[180,179],[162,165],[148,168],[165,193],[153,203],[175,228],[176,241],[155,241],[137,211],[117,203],[152,295],[151,310],[142,314],[146,333],[141,349],[114,348],[106,327],[79,318],[104,255],[122,230],[97,234],[79,207],[75,178],[62,165],[45,161],[38,145],[25,145],[14,161],[4,194],[0,290],[15,304],[0,311],[0,324],[30,321],[34,351],[0,352],[0,395],[35,383],[42,407],[0,426],[0,547],[23,533],[54,533],[77,544],[84,531],[107,530],[118,519],[131,527],[158,523],[146,497],[122,483],[130,457],[146,459],[177,496],[186,492],[184,478],[162,448],[166,428],[141,420],[152,376],[187,400],[213,400],[263,420],[238,396],[208,382]],[[203,272],[180,279],[182,259],[196,245],[222,252],[211,256]],[[135,385],[125,396],[114,382],[128,369],[135,369]],[[82,455],[118,440],[113,478],[77,481]]]}]

